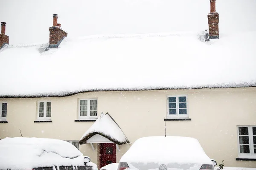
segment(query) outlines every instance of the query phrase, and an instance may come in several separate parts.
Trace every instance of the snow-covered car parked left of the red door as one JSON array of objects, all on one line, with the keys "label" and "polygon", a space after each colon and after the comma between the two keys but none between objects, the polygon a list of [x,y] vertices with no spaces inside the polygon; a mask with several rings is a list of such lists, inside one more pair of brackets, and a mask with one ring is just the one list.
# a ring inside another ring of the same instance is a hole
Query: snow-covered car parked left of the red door
[{"label": "snow-covered car parked left of the red door", "polygon": [[58,139],[0,140],[0,170],[98,170],[72,144]]}]

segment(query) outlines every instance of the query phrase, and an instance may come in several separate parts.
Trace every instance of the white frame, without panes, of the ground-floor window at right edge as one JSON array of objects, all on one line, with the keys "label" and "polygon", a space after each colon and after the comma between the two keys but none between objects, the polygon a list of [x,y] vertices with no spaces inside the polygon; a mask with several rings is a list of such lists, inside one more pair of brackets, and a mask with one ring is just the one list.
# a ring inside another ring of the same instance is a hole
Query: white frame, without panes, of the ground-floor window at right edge
[{"label": "white frame, without panes, of the ground-floor window at right edge", "polygon": [[[250,153],[240,153],[239,127],[248,127]],[[253,127],[256,127],[256,125],[238,125],[237,126],[238,158],[248,158],[248,159],[256,158],[256,153],[254,153],[254,148],[253,148]]]}]

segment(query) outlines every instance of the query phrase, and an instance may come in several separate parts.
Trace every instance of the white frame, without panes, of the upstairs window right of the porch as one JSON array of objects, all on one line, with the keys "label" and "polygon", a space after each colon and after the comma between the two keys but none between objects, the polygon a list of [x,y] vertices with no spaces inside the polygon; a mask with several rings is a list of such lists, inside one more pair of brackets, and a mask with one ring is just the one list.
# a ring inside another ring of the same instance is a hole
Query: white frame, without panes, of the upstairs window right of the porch
[{"label": "white frame, without panes, of the upstairs window right of the porch", "polygon": [[[169,97],[176,97],[176,113],[175,115],[169,114]],[[186,114],[179,114],[179,97],[186,97]],[[167,119],[186,119],[189,118],[189,107],[188,107],[188,96],[186,94],[183,95],[168,95],[166,96],[166,111],[167,111]]]}]

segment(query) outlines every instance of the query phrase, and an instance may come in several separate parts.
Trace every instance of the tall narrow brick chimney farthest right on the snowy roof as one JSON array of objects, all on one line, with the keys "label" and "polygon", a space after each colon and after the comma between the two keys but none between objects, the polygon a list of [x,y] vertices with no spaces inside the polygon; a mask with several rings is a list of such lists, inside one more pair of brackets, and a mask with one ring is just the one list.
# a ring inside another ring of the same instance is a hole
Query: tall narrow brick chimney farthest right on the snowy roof
[{"label": "tall narrow brick chimney farthest right on the snowy roof", "polygon": [[209,39],[219,38],[219,31],[218,31],[219,15],[218,15],[218,12],[216,12],[215,2],[216,0],[210,0],[211,9],[210,9],[210,13],[208,14]]}]

